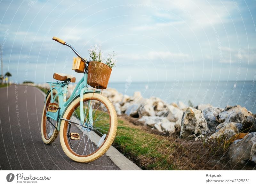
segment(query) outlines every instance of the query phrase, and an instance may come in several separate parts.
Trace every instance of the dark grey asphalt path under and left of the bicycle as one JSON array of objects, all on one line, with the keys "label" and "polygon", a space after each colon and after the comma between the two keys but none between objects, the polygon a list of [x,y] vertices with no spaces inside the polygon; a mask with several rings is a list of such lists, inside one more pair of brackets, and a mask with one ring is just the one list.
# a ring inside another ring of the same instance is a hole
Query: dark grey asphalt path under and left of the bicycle
[{"label": "dark grey asphalt path under and left of the bicycle", "polygon": [[60,139],[45,145],[41,139],[43,94],[31,86],[0,88],[1,170],[119,170],[104,155],[77,163],[63,152]]}]

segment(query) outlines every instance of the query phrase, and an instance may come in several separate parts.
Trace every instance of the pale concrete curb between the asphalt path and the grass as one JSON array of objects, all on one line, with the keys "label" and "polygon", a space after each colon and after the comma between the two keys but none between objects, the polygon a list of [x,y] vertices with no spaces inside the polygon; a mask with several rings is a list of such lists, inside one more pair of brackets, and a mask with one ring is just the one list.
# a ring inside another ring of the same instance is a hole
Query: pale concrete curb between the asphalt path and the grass
[{"label": "pale concrete curb between the asphalt path and the grass", "polygon": [[[40,90],[36,86],[35,88],[39,92],[41,92],[44,97],[46,96],[46,94],[42,90]],[[108,151],[106,152],[106,155],[113,161],[113,163],[116,164],[118,168],[120,168],[120,170],[141,170],[140,167],[138,167],[135,163],[126,158],[112,145],[109,147]]]}]

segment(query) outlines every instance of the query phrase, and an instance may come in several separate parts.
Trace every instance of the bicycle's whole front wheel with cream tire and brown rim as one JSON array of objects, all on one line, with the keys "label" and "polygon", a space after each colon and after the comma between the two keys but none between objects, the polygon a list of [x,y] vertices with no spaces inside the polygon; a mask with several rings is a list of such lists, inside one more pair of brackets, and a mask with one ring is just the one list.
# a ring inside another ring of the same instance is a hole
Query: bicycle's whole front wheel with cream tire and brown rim
[{"label": "bicycle's whole front wheel with cream tire and brown rim", "polygon": [[[80,122],[80,109],[84,121]],[[108,98],[98,93],[84,94],[65,111],[60,124],[60,143],[64,152],[74,161],[90,162],[100,158],[116,137],[117,115]]]}]

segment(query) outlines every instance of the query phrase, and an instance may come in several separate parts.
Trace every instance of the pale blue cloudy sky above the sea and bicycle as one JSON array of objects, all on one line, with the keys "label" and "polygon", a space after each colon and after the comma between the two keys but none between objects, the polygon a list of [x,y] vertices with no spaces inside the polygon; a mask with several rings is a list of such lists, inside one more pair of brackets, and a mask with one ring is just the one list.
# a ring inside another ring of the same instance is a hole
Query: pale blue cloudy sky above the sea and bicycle
[{"label": "pale blue cloudy sky above the sea and bicycle", "polygon": [[72,50],[117,53],[110,81],[241,81],[256,77],[256,1],[0,0],[0,55],[12,81],[72,71]]}]

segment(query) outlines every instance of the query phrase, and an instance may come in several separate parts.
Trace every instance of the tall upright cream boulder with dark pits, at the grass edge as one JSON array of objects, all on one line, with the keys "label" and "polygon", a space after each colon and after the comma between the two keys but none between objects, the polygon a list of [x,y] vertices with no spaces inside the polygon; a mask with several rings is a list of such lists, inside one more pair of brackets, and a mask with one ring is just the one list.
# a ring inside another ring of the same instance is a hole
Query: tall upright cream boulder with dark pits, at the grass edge
[{"label": "tall upright cream boulder with dark pits, at the grass edge", "polygon": [[201,110],[187,108],[181,119],[180,138],[186,138],[195,134],[207,134],[209,131],[206,120]]}]

